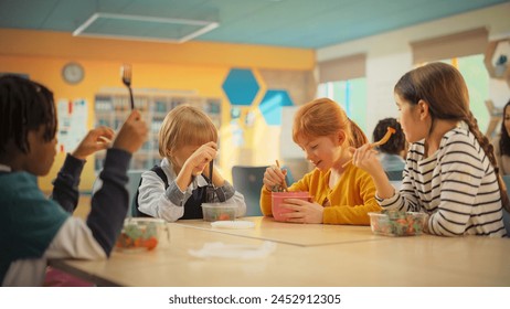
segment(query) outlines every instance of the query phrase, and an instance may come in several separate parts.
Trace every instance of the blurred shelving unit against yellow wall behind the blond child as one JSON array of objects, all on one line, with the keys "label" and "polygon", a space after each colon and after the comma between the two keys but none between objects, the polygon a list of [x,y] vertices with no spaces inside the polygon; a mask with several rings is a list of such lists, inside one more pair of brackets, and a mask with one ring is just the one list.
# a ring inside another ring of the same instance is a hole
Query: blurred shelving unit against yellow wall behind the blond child
[{"label": "blurred shelving unit against yellow wall behind the blond child", "polygon": [[[149,137],[142,147],[132,156],[130,170],[148,170],[159,164],[158,135],[167,114],[181,104],[199,107],[209,115],[216,128],[221,127],[221,99],[198,95],[135,95],[135,108],[140,110],[149,127]],[[95,96],[95,125],[107,126],[118,131],[130,113],[128,94],[99,93]],[[96,173],[103,169],[106,151],[95,156]]]}]

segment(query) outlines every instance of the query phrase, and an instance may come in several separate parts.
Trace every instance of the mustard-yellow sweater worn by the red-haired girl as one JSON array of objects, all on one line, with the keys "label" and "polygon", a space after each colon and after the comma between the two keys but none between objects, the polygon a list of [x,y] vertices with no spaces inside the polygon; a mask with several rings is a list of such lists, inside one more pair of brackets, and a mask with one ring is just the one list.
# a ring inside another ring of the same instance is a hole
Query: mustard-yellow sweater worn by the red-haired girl
[{"label": "mustard-yellow sweater worn by the red-haired girl", "polygon": [[[320,205],[329,201],[322,217],[325,224],[370,225],[368,213],[382,210],[375,201],[375,185],[370,174],[349,164],[340,181],[329,189],[330,173],[315,169],[290,185],[289,191],[307,191]],[[263,185],[261,210],[264,215],[272,215],[270,205],[270,191]]]}]

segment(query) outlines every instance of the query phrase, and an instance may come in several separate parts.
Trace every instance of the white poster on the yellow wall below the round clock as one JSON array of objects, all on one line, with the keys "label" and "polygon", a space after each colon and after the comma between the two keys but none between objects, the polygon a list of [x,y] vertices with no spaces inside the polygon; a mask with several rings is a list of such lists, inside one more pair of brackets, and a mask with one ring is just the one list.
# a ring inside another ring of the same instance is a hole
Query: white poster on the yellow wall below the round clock
[{"label": "white poster on the yellow wall below the round clock", "polygon": [[59,99],[59,152],[73,151],[87,134],[88,107],[83,98]]}]

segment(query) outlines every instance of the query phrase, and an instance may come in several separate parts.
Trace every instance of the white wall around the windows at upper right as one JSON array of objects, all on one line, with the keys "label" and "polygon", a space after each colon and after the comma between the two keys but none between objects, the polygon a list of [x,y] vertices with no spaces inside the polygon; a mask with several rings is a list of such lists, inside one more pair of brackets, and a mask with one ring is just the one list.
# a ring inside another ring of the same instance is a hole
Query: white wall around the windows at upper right
[{"label": "white wall around the windows at upper right", "polygon": [[[510,3],[320,49],[317,62],[366,53],[366,131],[371,132],[379,119],[397,116],[393,86],[413,68],[410,42],[480,26],[487,26],[489,41],[510,38]],[[502,106],[510,98],[510,88],[504,82],[491,79],[489,94],[497,106]]]}]

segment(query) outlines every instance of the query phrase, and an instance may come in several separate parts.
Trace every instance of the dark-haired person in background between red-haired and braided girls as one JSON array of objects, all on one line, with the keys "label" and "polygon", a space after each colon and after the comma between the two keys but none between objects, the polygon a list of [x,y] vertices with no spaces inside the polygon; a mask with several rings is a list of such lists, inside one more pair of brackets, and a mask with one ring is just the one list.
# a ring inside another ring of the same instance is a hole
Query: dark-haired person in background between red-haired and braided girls
[{"label": "dark-haired person in background between red-haired and braided girls", "polygon": [[395,129],[395,132],[385,143],[378,147],[379,160],[386,172],[403,171],[405,160],[402,158],[402,152],[405,150],[405,136],[395,118],[380,120],[373,130],[372,141],[381,140],[389,127]]}]

